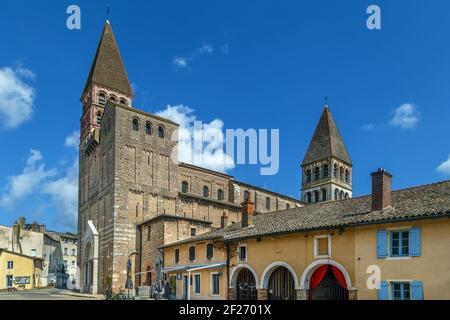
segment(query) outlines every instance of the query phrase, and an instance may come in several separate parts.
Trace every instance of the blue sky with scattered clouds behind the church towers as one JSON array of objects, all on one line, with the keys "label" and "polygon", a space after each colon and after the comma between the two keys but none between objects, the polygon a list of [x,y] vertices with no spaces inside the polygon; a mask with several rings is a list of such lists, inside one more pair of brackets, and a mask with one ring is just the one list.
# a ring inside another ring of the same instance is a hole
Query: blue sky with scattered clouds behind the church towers
[{"label": "blue sky with scattered clouds behind the church towers", "polygon": [[[75,228],[71,135],[107,3],[135,107],[280,129],[279,173],[237,165],[237,179],[299,197],[324,96],[354,163],[354,195],[370,192],[378,167],[395,189],[449,178],[448,1],[18,0],[0,11],[0,224],[24,215]],[[66,28],[70,4],[81,30]],[[381,30],[366,28],[370,4]]]}]

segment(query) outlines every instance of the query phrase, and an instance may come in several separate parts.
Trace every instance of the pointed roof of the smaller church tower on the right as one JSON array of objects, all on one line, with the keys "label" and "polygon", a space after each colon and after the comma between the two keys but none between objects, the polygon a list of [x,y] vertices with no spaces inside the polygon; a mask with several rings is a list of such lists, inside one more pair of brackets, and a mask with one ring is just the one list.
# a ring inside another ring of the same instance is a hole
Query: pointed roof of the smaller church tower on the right
[{"label": "pointed roof of the smaller church tower on the right", "polygon": [[352,164],[341,134],[334,122],[327,103],[323,108],[316,131],[311,139],[302,165],[307,165],[327,157],[335,157],[349,165]]}]

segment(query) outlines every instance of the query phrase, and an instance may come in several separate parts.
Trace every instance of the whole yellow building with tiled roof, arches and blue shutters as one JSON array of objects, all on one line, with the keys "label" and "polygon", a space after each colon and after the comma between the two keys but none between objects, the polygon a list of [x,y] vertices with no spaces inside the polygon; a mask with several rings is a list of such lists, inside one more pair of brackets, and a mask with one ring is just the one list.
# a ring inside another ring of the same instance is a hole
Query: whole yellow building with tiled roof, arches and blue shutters
[{"label": "whole yellow building with tiled roof, arches and blue shutters", "polygon": [[391,192],[390,177],[378,171],[370,196],[273,214],[244,203],[247,225],[164,246],[176,298],[450,299],[450,182]]}]

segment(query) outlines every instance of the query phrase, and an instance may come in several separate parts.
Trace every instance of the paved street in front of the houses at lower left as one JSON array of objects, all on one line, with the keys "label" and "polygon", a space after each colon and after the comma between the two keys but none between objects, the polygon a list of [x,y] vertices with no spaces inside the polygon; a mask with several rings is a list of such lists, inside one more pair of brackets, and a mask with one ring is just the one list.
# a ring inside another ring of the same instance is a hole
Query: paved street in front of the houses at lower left
[{"label": "paved street in front of the houses at lower left", "polygon": [[99,300],[101,296],[75,293],[69,290],[48,288],[19,292],[0,292],[0,300]]}]

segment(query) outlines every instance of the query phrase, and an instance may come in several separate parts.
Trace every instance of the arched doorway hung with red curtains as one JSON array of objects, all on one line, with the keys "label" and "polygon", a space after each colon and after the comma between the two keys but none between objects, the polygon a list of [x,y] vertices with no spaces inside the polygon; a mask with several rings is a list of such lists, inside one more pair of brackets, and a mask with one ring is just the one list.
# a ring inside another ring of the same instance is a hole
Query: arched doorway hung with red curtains
[{"label": "arched doorway hung with red curtains", "polygon": [[336,266],[322,265],[312,274],[309,281],[310,300],[348,300],[346,279]]}]

